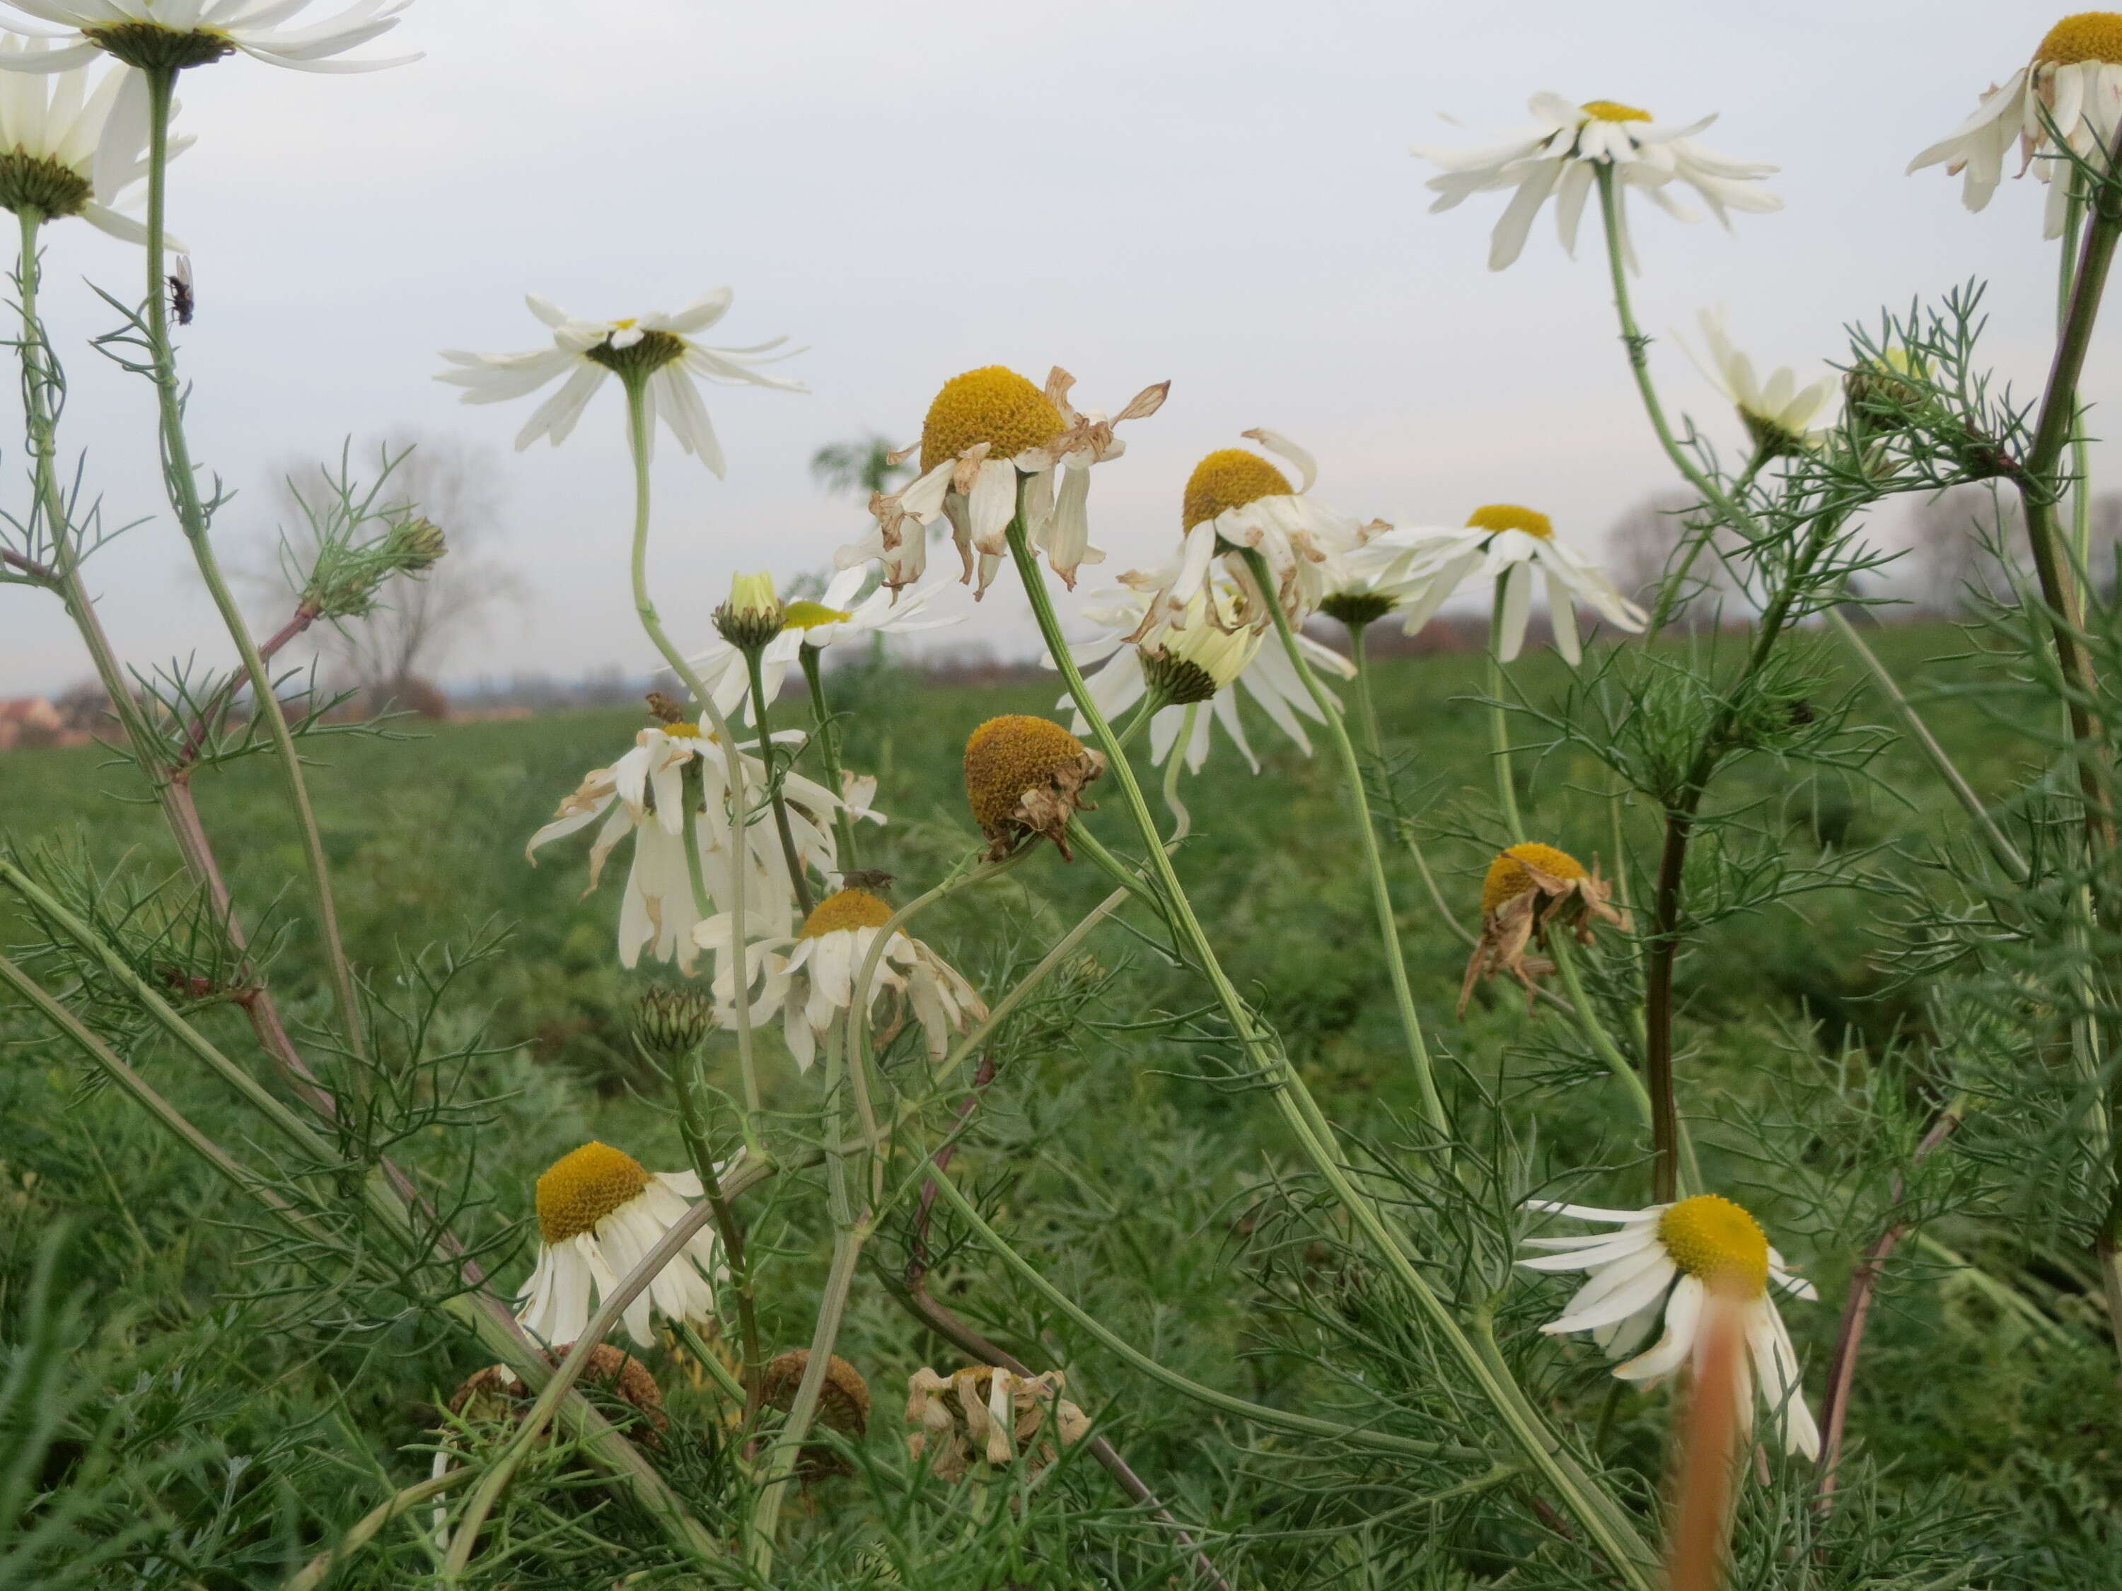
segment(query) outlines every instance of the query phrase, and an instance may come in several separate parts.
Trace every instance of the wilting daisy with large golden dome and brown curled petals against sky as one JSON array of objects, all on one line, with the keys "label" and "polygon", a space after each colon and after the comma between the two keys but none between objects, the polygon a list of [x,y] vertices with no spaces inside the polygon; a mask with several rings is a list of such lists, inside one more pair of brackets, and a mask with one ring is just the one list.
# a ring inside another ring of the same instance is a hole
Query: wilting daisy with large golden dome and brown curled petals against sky
[{"label": "wilting daisy with large golden dome and brown curled petals against sky", "polygon": [[[1103,409],[1076,409],[1067,397],[1074,384],[1059,365],[1046,375],[1044,392],[1006,365],[944,382],[921,422],[921,475],[898,492],[870,499],[876,528],[840,547],[838,566],[874,558],[885,566],[885,585],[912,585],[927,569],[927,526],[949,518],[966,564],[963,581],[972,585],[978,566],[974,594],[980,596],[1008,552],[1023,477],[1025,537],[1074,590],[1076,571],[1106,558],[1091,545],[1091,465],[1127,452],[1112,429],[1156,414],[1171,382],[1142,388],[1112,418]],[[893,462],[900,458],[906,454],[893,454]]]}]

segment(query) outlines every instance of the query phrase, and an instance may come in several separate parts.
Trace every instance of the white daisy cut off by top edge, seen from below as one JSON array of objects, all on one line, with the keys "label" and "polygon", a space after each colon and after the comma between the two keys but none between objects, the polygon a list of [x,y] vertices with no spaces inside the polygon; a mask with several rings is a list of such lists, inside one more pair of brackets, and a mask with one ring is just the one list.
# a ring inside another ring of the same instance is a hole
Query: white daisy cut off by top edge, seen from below
[{"label": "white daisy cut off by top edge, seen from below", "polygon": [[342,62],[346,51],[367,45],[399,25],[412,0],[354,0],[337,15],[310,25],[289,23],[310,0],[8,0],[38,21],[66,32],[0,17],[0,28],[32,38],[49,38],[55,49],[42,57],[0,57],[13,72],[64,72],[108,51],[127,66],[182,70],[206,66],[242,51],[267,66],[299,72],[382,72],[386,66],[418,62],[418,55]]}]

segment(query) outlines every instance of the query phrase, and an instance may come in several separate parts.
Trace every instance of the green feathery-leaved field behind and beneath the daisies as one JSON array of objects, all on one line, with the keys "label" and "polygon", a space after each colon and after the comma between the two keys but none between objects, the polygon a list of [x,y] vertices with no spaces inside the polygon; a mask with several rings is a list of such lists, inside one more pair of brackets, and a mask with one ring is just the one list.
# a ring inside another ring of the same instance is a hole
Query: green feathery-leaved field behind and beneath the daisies
[{"label": "green feathery-leaved field behind and beneath the daisies", "polygon": [[[1850,677],[1825,641],[1806,645],[1821,647],[1812,700],[1827,711]],[[2046,734],[2014,719],[2022,706],[2001,683],[1971,662],[1925,662],[1959,651],[1954,632],[1889,630],[1880,645],[1903,681],[1923,685],[1925,713],[1978,789],[2003,791],[2046,762]],[[1519,677],[1534,702],[1564,687],[1551,660],[1528,660]],[[1420,810],[1443,895],[1471,927],[1479,876],[1498,844],[1485,827],[1488,719],[1475,700],[1481,662],[1394,660],[1377,679],[1396,787]],[[1055,692],[942,689],[889,670],[847,677],[840,687],[853,715],[849,764],[881,776],[879,804],[891,815],[887,829],[864,829],[864,866],[891,870],[904,899],[978,844],[959,785],[966,734],[993,713],[1050,711]],[[783,713],[804,721],[794,698]],[[422,1131],[477,1137],[467,1224],[499,1245],[507,1286],[528,1269],[530,1179],[552,1158],[588,1137],[649,1167],[685,1158],[660,1084],[628,1039],[639,989],[675,974],[615,965],[624,857],[588,897],[581,840],[550,846],[535,868],[524,859],[524,838],[558,798],[615,757],[641,721],[630,711],[575,713],[312,745],[350,950],[380,993],[405,993],[393,972],[405,957],[424,955],[433,965],[437,946],[505,931],[490,955],[465,967],[437,1020],[450,1044],[484,1050],[465,1063],[465,1092],[486,1101],[480,1120]],[[1882,706],[1859,694],[1853,723],[1884,721]],[[1623,891],[1640,897],[1647,823],[1608,798],[1613,774],[1566,751],[1536,753],[1543,738],[1528,719],[1519,759],[1528,829],[1587,861],[1596,853],[1608,874],[1619,836],[1632,861]],[[1254,745],[1271,747],[1258,776],[1218,742],[1207,772],[1184,781],[1195,838],[1180,872],[1231,974],[1277,1020],[1328,1114],[1390,1154],[1409,1141],[1405,1116],[1415,1092],[1354,866],[1352,812],[1328,757],[1297,757],[1265,723]],[[4,840],[17,849],[81,844],[100,866],[136,878],[172,874],[176,859],[157,810],[136,800],[125,770],[104,764],[98,751],[0,759]],[[1889,1167],[1853,1173],[1855,1135],[1882,1112],[1920,1107],[1920,1056],[1937,1042],[1927,980],[1897,972],[1908,950],[1897,908],[1906,889],[1923,887],[1916,853],[1959,832],[1961,815],[1906,740],[1886,736],[1863,776],[1755,757],[1721,793],[1749,808],[1746,832],[1785,853],[1789,866],[1812,870],[1812,887],[1768,912],[1736,912],[1691,946],[1681,965],[1681,1103],[1712,1186],[1744,1190],[1785,1254],[1821,1286],[1819,1305],[1785,1311],[1816,1398],[1848,1271],[1876,1237],[1884,1207]],[[325,1020],[329,997],[312,959],[299,853],[272,768],[255,759],[202,781],[202,808],[238,897],[278,902],[284,938],[274,978],[284,1006],[297,1018]],[[1110,800],[1091,823],[1123,846],[1125,817]],[[1502,1099],[1509,1141],[1483,1152],[1515,1156],[1532,1177],[1619,1160],[1606,1184],[1640,1182],[1615,1148],[1628,1124],[1623,1101],[1575,1033],[1500,986],[1477,995],[1458,1020],[1466,946],[1403,851],[1392,855],[1392,874],[1424,1027],[1458,1090]],[[1880,895],[1878,880],[1897,880],[1903,895]],[[955,895],[923,919],[921,936],[993,995],[1106,889],[1091,866],[1063,866],[1048,853]],[[0,929],[21,938],[4,906]],[[1292,1311],[1290,1296],[1294,1290],[1358,1322],[1362,1279],[1333,1273],[1330,1262],[1324,1271],[1307,1269],[1309,1258],[1292,1262],[1256,1220],[1277,1177],[1292,1173],[1273,1114],[1216,1076],[1227,1056],[1169,1020],[1199,1006],[1201,993],[1161,961],[1144,923],[1123,914],[1086,950],[1091,959],[1069,969],[1059,993],[1012,1029],[1008,1065],[959,1158],[963,1186],[980,1190],[1078,1302],[1171,1368],[1260,1402],[1330,1402],[1337,1328]],[[1623,955],[1619,942],[1604,955]],[[1594,961],[1594,982],[1606,986],[1608,972],[1617,974],[1619,961]],[[233,1012],[204,1020],[253,1056]],[[30,1012],[0,1016],[0,1313],[19,1309],[40,1245],[64,1230],[62,1275],[87,1298],[72,1353],[83,1404],[70,1419],[115,1421],[138,1468],[132,1489],[100,1502],[85,1525],[91,1534],[136,1532],[121,1559],[125,1572],[110,1570],[108,1583],[278,1585],[393,1485],[427,1472],[427,1455],[407,1449],[435,1426],[435,1398],[482,1364],[477,1349],[433,1319],[378,1319],[384,1311],[352,1292],[320,1298],[284,1256],[246,1258],[250,1213],[125,1099],[85,1088],[74,1061]],[[229,1103],[170,1046],[142,1037],[136,1059],[210,1131],[240,1131]],[[717,1065],[728,1080],[728,1056]],[[785,1061],[768,1071],[770,1105],[800,1107],[813,1080],[796,1078]],[[1846,1114],[1823,1109],[1823,1090],[1857,1103]],[[435,1175],[454,1162],[424,1141],[401,1146],[401,1154],[437,1167]],[[1793,1179],[1785,1165],[1804,1167],[1804,1175]],[[762,1307],[781,1347],[796,1347],[808,1330],[823,1264],[815,1205],[815,1188],[802,1179],[760,1199],[760,1230],[775,1235]],[[1850,1415],[1863,1479],[1853,1481],[1846,1506],[1901,1521],[1908,1553],[1973,1566],[1971,1578],[1933,1574],[1923,1585],[2094,1585],[2122,1561],[2122,1398],[2097,1286],[2077,1256],[2043,1254],[2033,1237],[2020,1241],[2020,1230],[2010,1211],[1940,1222],[1929,1243],[1903,1247],[1876,1307]],[[1290,1438],[1254,1438],[1231,1423],[1212,1432],[1203,1411],[1131,1373],[1008,1281],[963,1235],[938,1232],[949,1237],[938,1239],[938,1296],[1033,1368],[1065,1364],[1072,1396],[1110,1421],[1116,1445],[1173,1513],[1212,1532],[1252,1536],[1229,1549],[1239,1566],[1233,1585],[1445,1587],[1466,1583],[1454,1576],[1504,1574],[1511,1553],[1502,1544],[1494,1561],[1464,1542],[1449,1561],[1424,1559],[1424,1540],[1443,1529],[1447,1504],[1403,1510],[1398,1523],[1373,1527],[1369,1521],[1411,1498],[1392,1474],[1364,1481],[1371,1493],[1345,1476],[1288,1485],[1290,1466],[1305,1468]],[[887,1232],[883,1249],[898,1252],[898,1239]],[[1504,1307],[1507,1330],[1530,1336],[1560,1298],[1553,1279],[1526,1275]],[[957,1360],[868,1279],[840,1351],[874,1394],[870,1462],[904,1468],[906,1375],[921,1364],[949,1370]],[[1545,1353],[1541,1396],[1587,1421],[1604,1417],[1608,1451],[1655,1472],[1664,1396],[1619,1394],[1608,1404],[1613,1383],[1587,1347]],[[719,1430],[717,1394],[677,1358],[656,1358],[656,1368],[679,1440],[707,1443],[705,1432]],[[1420,1364],[1403,1370],[1420,1375]],[[1384,1375],[1375,1366],[1362,1375],[1373,1373]],[[350,1392],[333,1400],[327,1385]],[[1203,1440],[1212,1434],[1229,1440]],[[1265,1453],[1248,1451],[1260,1443]],[[1120,1500],[1097,1470],[1078,1466],[1063,1487],[1057,1496],[1078,1500],[1080,1521],[1027,1510],[1016,1527],[1027,1563],[1055,1561],[1053,1538],[1040,1532],[1061,1532],[1082,1563],[1074,1578],[1036,1580],[1025,1570],[1021,1583],[1171,1583],[1169,1563],[1159,1568],[1142,1544],[1140,1521],[1114,1513]],[[845,1553],[881,1506],[872,1498],[862,1481],[828,1481],[806,1498],[792,1572],[813,1578],[800,1583],[857,1583]],[[547,1583],[539,1561],[526,1555],[522,1578],[511,1583]],[[405,1532],[369,1553],[344,1585],[403,1585],[422,1566]],[[1793,1566],[1791,1574],[1797,1578],[1749,1583],[1918,1585],[1865,1578],[1869,1570],[1850,1563]],[[940,1574],[934,1583],[955,1585]],[[1538,1563],[1528,1563],[1509,1583],[1562,1580],[1541,1578]]]}]

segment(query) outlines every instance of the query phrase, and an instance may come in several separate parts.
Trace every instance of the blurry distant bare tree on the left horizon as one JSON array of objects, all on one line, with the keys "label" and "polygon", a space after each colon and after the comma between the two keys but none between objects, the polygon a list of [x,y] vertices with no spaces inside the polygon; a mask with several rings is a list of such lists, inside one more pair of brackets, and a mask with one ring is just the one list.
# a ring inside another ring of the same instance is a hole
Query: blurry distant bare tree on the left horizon
[{"label": "blurry distant bare tree on the left horizon", "polygon": [[[367,460],[369,482],[395,460],[378,509],[431,520],[450,552],[418,579],[386,581],[365,615],[320,624],[310,639],[325,672],[356,687],[369,706],[399,702],[431,711],[439,702],[431,681],[450,655],[477,636],[497,609],[524,596],[514,566],[494,547],[503,530],[501,475],[490,452],[414,431],[354,448],[350,460],[354,473]],[[293,465],[280,473],[276,496],[286,590],[310,566],[320,526],[337,507],[333,469],[308,460]]]}]

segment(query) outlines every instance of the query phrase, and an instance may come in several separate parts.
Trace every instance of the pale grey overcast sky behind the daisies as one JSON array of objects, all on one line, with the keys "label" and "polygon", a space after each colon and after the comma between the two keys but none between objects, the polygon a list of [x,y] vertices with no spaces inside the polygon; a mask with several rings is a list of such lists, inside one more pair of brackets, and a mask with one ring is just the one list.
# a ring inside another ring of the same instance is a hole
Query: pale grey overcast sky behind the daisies
[{"label": "pale grey overcast sky behind the daisies", "polygon": [[[1757,361],[1812,369],[1842,356],[1842,322],[1984,276],[1990,363],[2031,388],[2054,280],[2037,185],[2007,182],[1976,216],[1956,180],[1901,168],[2048,21],[1973,0],[422,0],[371,47],[427,51],[407,68],[342,78],[231,57],[185,74],[199,142],[174,168],[170,221],[197,274],[193,448],[240,488],[221,522],[233,547],[269,537],[269,479],[291,456],[393,429],[492,448],[528,598],[450,679],[651,662],[626,590],[618,388],[562,448],[516,454],[528,403],[460,407],[431,380],[439,348],[543,342],[526,291],[603,318],[726,282],[736,303],[713,339],[808,346],[781,367],[808,397],[709,392],[728,482],[658,452],[654,581],[679,639],[707,636],[732,571],[821,566],[862,532],[859,509],[808,479],[819,443],[910,439],[936,386],[987,363],[1033,380],[1061,363],[1106,407],[1171,380],[1163,414],[1097,471],[1112,573],[1167,556],[1193,460],[1248,426],[1309,445],[1318,494],[1362,518],[1460,524],[1519,501],[1596,539],[1670,486],[1596,227],[1572,263],[1543,216],[1524,259],[1490,274],[1502,199],[1426,214],[1432,170],[1407,146],[1524,125],[1536,89],[1659,121],[1719,110],[1704,142],[1780,165],[1787,208],[1732,235],[1638,202],[1651,331],[1725,301]],[[149,392],[85,346],[110,320],[85,280],[134,297],[138,252],[79,223],[49,244],[64,441],[87,448],[115,518],[161,515],[91,564],[106,624],[134,664],[193,649],[221,664],[157,494]],[[1679,350],[1653,359],[1738,445]],[[8,412],[0,437],[17,435]],[[0,450],[17,505],[19,462]],[[1027,624],[997,585],[959,634],[1021,651]],[[0,588],[0,696],[83,672],[57,605]]]}]

